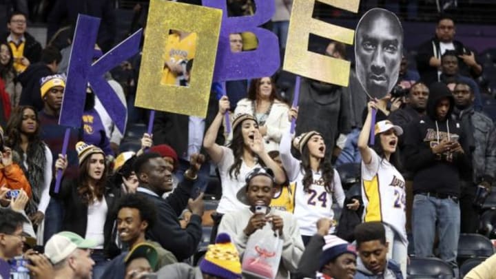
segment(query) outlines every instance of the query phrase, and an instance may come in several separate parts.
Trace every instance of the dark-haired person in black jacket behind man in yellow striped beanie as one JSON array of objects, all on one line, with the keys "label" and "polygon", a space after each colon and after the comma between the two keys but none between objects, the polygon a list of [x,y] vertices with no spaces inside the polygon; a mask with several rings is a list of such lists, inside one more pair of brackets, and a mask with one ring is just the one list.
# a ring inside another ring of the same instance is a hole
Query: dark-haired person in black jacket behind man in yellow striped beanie
[{"label": "dark-haired person in black jacket behind man in yellow striped beanie", "polygon": [[39,92],[44,95],[46,91],[45,88],[41,90],[41,83],[45,83],[45,80],[41,79],[56,74],[61,59],[59,50],[48,46],[41,51],[41,61],[29,65],[24,72],[19,74],[18,79],[23,87],[19,105],[31,105],[37,111],[43,109],[43,96],[40,96]]}]

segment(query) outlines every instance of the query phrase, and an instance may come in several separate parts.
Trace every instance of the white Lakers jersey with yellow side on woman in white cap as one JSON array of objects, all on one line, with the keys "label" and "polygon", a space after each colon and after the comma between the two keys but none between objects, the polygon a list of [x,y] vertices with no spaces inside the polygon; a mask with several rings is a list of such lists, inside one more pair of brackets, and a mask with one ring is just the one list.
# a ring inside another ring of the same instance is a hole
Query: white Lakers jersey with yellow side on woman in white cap
[{"label": "white Lakers jersey with yellow side on woman in white cap", "polygon": [[406,240],[406,192],[404,178],[385,158],[369,148],[372,160],[362,161],[364,222],[380,221],[393,227]]}]

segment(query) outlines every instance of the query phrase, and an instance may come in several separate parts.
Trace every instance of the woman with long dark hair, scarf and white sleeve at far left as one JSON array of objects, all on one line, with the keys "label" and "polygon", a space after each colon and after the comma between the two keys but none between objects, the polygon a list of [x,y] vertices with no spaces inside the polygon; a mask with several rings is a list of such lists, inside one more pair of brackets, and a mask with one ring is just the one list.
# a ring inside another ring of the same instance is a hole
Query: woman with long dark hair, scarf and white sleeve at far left
[{"label": "woman with long dark hair, scarf and white sleeve at far left", "polygon": [[26,207],[33,225],[40,225],[50,202],[52,152],[41,141],[39,118],[34,107],[17,107],[6,127],[6,144],[20,157],[19,166],[31,185],[32,198]]}]

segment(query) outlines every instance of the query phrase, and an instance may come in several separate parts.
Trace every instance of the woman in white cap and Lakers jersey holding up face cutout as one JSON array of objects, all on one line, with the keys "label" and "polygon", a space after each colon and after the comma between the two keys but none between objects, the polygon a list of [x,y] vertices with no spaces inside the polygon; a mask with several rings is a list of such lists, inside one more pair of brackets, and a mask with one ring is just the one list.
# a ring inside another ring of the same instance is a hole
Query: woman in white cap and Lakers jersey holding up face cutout
[{"label": "woman in white cap and Lakers jersey holding up face cutout", "polygon": [[369,147],[372,111],[378,107],[376,101],[370,101],[367,107],[369,113],[358,136],[358,149],[362,155],[363,218],[364,222],[380,221],[384,224],[389,243],[388,258],[395,260],[406,276],[406,192],[404,178],[397,170],[400,168],[398,136],[403,134],[403,130],[391,121],[379,121],[374,127],[373,148]]}]

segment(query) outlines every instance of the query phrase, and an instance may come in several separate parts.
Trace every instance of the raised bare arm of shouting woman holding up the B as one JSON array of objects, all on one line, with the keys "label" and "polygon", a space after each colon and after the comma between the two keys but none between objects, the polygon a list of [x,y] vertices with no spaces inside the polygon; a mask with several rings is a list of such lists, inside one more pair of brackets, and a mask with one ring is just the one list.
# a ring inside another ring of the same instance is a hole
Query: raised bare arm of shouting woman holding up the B
[{"label": "raised bare arm of shouting woman holding up the B", "polygon": [[229,99],[227,96],[223,96],[219,100],[219,111],[205,133],[205,138],[203,139],[203,147],[205,147],[205,150],[207,150],[211,160],[216,164],[219,163],[223,157],[223,149],[216,143],[216,138],[220,125],[222,125],[224,114],[227,110],[229,110]]}]

